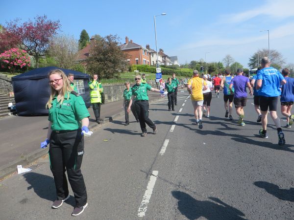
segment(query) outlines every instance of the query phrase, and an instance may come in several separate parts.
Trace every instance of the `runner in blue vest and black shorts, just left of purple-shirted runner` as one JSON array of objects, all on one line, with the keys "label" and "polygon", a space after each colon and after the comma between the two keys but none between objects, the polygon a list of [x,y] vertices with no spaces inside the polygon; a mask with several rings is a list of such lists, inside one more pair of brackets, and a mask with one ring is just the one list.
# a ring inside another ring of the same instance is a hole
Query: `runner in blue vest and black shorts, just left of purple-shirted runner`
[{"label": "runner in blue vest and black shorts, just left of purple-shirted runner", "polygon": [[[233,77],[230,75],[231,71],[229,69],[226,69],[225,76],[221,79],[221,88],[223,88],[223,101],[224,101],[224,109],[225,114],[224,117],[228,117],[228,114],[230,113],[229,119],[233,120],[232,113],[233,113],[233,100],[234,100],[234,87],[232,87],[232,93],[229,89],[230,83],[233,79]],[[229,101],[229,105],[228,105]]]}]

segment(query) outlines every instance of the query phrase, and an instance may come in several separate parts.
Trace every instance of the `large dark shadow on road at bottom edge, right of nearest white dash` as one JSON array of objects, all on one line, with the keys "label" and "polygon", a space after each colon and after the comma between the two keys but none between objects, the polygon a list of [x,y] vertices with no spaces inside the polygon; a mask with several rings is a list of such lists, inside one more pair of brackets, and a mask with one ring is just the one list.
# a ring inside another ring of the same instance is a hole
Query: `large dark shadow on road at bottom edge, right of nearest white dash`
[{"label": "large dark shadow on road at bottom edge, right of nearest white dash", "polygon": [[209,197],[212,201],[200,201],[181,191],[172,191],[172,196],[178,199],[178,210],[189,220],[201,217],[208,220],[245,220],[243,212],[219,198]]}]

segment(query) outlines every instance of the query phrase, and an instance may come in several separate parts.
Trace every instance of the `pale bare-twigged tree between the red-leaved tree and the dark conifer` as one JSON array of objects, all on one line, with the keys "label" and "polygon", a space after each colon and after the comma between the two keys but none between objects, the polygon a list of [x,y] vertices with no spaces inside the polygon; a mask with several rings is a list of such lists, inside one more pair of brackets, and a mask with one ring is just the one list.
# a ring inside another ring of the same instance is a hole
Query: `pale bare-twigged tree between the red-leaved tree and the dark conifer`
[{"label": "pale bare-twigged tree between the red-leaved tree and the dark conifer", "polygon": [[61,68],[72,69],[77,60],[78,43],[70,36],[54,37],[48,49],[50,57],[54,58]]}]

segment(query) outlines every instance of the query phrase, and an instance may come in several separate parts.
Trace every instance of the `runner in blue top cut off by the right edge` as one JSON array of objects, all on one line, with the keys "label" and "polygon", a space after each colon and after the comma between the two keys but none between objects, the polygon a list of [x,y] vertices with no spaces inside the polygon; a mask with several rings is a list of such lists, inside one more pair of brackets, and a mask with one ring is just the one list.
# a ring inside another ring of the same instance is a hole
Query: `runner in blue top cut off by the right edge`
[{"label": "runner in blue top cut off by the right edge", "polygon": [[281,111],[287,119],[286,128],[291,128],[293,124],[294,115],[291,115],[291,109],[294,103],[294,79],[289,77],[289,69],[284,68],[282,70],[282,75],[286,80],[286,84],[282,86],[281,94]]}]

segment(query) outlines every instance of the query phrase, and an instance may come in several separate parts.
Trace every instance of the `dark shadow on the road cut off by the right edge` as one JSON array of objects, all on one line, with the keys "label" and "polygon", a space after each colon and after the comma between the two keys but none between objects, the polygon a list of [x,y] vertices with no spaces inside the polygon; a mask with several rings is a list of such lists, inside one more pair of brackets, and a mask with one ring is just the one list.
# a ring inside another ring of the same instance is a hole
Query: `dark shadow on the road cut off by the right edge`
[{"label": "dark shadow on the road cut off by the right edge", "polygon": [[294,188],[292,187],[290,189],[280,189],[279,186],[265,181],[256,181],[254,185],[265,189],[269,194],[278,199],[294,202]]}]

